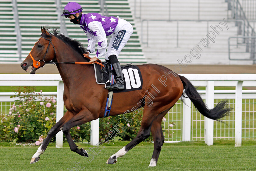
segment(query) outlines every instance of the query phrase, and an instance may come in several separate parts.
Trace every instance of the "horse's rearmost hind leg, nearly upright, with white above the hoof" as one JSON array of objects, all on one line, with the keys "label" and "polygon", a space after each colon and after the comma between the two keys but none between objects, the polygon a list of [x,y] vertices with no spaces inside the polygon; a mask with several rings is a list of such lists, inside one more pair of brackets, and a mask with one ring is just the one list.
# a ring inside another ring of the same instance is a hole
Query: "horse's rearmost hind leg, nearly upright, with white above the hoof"
[{"label": "horse's rearmost hind leg, nearly upright, with white above the hoof", "polygon": [[155,120],[153,121],[153,124],[151,126],[151,132],[152,132],[153,140],[154,140],[154,151],[153,151],[153,155],[150,160],[149,166],[156,166],[159,154],[161,152],[163,143],[165,141],[164,134],[162,131],[162,119],[170,109],[168,109],[164,112],[161,112],[155,118]]}]

